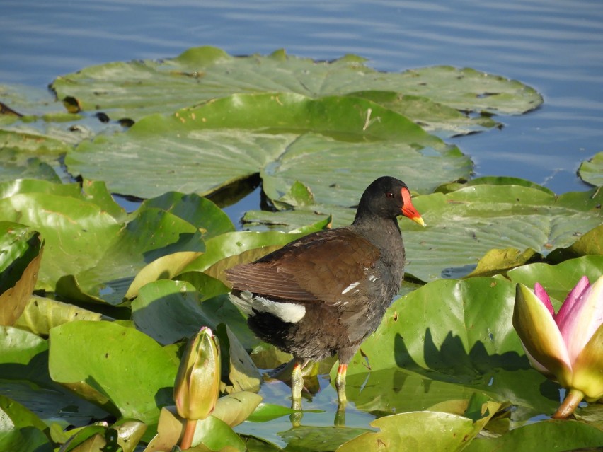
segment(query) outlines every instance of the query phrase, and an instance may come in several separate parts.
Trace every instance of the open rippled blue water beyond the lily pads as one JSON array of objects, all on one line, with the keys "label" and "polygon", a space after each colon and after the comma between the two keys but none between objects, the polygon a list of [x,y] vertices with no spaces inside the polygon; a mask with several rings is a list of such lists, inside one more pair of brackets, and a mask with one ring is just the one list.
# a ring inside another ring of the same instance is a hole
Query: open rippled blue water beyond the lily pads
[{"label": "open rippled blue water beyond the lily pads", "polygon": [[[231,54],[282,47],[315,59],[355,53],[384,71],[470,66],[534,86],[544,95],[539,110],[499,117],[503,130],[449,140],[473,158],[476,175],[527,178],[558,193],[585,190],[576,175],[580,161],[603,150],[599,0],[3,0],[0,5],[0,83],[42,88],[91,64],[173,57],[197,45]],[[257,206],[240,207],[246,208]]]}]

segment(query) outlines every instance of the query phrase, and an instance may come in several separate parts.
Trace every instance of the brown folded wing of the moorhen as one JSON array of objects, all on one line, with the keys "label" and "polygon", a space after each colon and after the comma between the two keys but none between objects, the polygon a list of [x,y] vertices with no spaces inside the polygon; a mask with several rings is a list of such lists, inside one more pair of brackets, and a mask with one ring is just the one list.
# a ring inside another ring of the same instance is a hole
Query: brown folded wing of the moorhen
[{"label": "brown folded wing of the moorhen", "polygon": [[348,228],[320,231],[249,264],[226,270],[233,289],[272,299],[338,304],[350,284],[367,278],[379,250]]}]

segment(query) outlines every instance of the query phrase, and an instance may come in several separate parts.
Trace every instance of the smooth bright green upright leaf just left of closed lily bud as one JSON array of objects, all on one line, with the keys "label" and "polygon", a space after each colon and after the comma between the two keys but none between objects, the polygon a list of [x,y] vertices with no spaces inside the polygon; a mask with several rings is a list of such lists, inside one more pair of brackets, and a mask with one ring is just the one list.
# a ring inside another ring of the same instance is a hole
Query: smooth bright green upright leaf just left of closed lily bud
[{"label": "smooth bright green upright leaf just left of closed lily bud", "polygon": [[122,417],[156,424],[173,403],[178,361],[134,328],[85,320],[52,328],[48,365],[54,381]]}]

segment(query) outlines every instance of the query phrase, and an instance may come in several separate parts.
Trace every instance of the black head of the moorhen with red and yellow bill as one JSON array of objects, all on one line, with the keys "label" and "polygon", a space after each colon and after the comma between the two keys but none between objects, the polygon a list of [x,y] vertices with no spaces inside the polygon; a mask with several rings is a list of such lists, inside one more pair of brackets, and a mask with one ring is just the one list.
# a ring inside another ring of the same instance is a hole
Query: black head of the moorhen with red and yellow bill
[{"label": "black head of the moorhen with red and yellow bill", "polygon": [[356,220],[365,217],[396,219],[400,215],[425,226],[420,214],[410,202],[410,191],[406,184],[391,176],[382,176],[364,190],[356,211]]}]

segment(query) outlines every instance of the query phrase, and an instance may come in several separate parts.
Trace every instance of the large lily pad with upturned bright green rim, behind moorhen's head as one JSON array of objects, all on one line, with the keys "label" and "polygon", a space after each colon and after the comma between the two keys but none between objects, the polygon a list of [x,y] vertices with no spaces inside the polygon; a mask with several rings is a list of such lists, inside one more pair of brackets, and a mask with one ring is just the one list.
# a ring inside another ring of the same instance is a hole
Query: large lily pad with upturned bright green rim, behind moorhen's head
[{"label": "large lily pad with upturned bright green rim, behind moorhen's head", "polygon": [[66,163],[123,195],[208,195],[261,173],[272,199],[299,180],[316,202],[346,207],[380,175],[401,174],[413,190],[431,192],[472,170],[458,149],[368,100],[292,93],[231,95],[146,117],[125,133],[81,144]]}]

